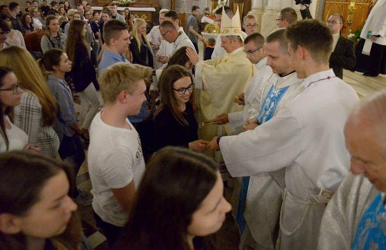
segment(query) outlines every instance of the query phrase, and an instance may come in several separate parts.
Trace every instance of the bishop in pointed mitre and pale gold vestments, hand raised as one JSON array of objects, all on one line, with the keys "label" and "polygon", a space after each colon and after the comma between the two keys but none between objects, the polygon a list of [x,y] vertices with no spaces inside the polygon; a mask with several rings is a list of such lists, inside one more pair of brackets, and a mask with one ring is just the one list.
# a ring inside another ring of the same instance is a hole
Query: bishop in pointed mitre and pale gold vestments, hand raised
[{"label": "bishop in pointed mitre and pale gold vestments, hand raised", "polygon": [[[212,121],[222,113],[241,111],[243,108],[234,103],[235,95],[245,91],[256,73],[256,67],[244,52],[239,13],[232,20],[225,14],[223,16],[220,36],[222,47],[227,52],[225,56],[214,61],[199,61],[193,49],[186,50],[190,62],[196,67],[195,86],[201,89],[199,111],[202,122]],[[204,140],[223,134],[232,134],[229,124],[207,125],[200,130],[200,137]]]}]

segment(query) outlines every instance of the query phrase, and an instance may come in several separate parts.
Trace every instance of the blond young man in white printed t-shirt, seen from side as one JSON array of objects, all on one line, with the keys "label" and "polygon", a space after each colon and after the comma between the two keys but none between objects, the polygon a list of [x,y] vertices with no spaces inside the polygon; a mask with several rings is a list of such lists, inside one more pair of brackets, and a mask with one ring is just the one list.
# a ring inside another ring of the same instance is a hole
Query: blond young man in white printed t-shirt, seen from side
[{"label": "blond young man in white printed t-shirt, seen from side", "polygon": [[144,79],[151,73],[148,67],[117,63],[99,76],[104,109],[91,123],[87,160],[94,218],[110,248],[127,222],[145,171],[139,135],[127,116],[137,115],[146,101]]}]

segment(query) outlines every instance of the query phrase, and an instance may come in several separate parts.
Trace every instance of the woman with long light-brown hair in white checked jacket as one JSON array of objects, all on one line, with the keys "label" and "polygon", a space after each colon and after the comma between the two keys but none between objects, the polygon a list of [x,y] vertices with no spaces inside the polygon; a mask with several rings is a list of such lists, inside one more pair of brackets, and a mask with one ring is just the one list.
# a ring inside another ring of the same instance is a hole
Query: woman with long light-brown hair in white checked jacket
[{"label": "woman with long light-brown hair in white checked jacket", "polygon": [[53,130],[56,122],[56,100],[49,90],[32,55],[18,46],[0,51],[0,66],[13,69],[23,88],[21,104],[14,107],[14,124],[28,135],[30,145],[38,144],[44,155],[56,157],[59,137]]}]

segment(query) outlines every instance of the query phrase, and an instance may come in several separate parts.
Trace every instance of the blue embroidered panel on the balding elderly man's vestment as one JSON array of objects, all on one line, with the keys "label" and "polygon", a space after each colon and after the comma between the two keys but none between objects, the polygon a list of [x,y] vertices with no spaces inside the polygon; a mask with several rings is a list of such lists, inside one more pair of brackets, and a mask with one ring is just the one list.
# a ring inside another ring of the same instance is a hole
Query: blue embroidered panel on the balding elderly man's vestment
[{"label": "blue embroidered panel on the balding elderly man's vestment", "polygon": [[386,249],[386,210],[380,193],[363,214],[351,249]]}]

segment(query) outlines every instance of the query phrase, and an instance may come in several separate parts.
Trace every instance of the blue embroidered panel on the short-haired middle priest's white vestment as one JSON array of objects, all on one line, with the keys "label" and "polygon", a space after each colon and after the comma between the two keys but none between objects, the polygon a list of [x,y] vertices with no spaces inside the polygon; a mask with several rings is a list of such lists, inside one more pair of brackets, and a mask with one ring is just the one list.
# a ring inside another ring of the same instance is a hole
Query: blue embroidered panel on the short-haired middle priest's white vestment
[{"label": "blue embroidered panel on the short-haired middle priest's white vestment", "polygon": [[[282,99],[283,95],[287,92],[289,87],[290,86],[287,86],[281,89],[275,89],[274,83],[271,85],[261,105],[261,110],[257,119],[258,124],[262,124],[263,122],[266,122],[272,118],[276,107],[278,106],[280,100]],[[237,216],[236,216],[236,222],[239,225],[240,235],[243,234],[243,231],[246,225],[246,221],[244,218],[244,211],[245,211],[245,205],[247,203],[249,179],[250,179],[250,176],[243,177],[243,180],[241,182],[241,188],[240,188],[239,205],[238,205]]]}]

